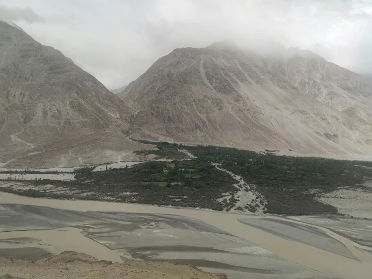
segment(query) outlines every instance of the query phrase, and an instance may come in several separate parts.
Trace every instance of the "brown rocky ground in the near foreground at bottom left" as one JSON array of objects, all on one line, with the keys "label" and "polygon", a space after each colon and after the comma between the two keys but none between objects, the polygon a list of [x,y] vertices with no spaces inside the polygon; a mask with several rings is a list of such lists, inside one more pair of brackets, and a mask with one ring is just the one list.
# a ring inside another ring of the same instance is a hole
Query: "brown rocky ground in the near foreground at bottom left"
[{"label": "brown rocky ground in the near foreground at bottom left", "polygon": [[1,279],[227,279],[225,274],[204,272],[192,265],[179,265],[170,261],[111,263],[71,251],[62,252],[45,262],[0,258],[0,272]]}]

